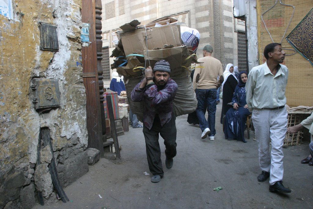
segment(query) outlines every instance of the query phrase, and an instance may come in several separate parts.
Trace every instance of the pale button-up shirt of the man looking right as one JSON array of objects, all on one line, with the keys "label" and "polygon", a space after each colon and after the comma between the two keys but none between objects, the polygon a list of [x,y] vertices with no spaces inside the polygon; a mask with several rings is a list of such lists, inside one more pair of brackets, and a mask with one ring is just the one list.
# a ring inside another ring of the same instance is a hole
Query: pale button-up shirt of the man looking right
[{"label": "pale button-up shirt of the man looking right", "polygon": [[256,66],[249,72],[246,83],[246,102],[249,112],[253,108],[275,108],[286,104],[286,85],[288,68],[280,64],[274,76],[267,63]]}]

